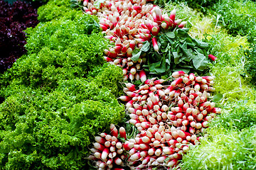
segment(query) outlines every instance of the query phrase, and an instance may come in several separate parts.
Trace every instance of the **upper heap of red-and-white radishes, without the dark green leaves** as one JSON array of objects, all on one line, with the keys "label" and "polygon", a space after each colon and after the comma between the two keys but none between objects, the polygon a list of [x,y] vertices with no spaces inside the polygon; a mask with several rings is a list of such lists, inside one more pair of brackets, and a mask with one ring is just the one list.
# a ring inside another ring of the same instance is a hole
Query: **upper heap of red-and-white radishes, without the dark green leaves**
[{"label": "upper heap of red-and-white radishes, without the dark green leaves", "polygon": [[146,0],[104,1],[100,8],[94,6],[95,1],[83,1],[84,11],[96,14],[100,18],[100,27],[106,33],[105,38],[114,42],[114,47],[105,50],[105,60],[123,68],[124,81],[139,80],[139,72],[146,62],[145,56],[132,60],[135,48],[141,48],[142,42],[153,43],[158,51],[157,35],[161,29],[183,28],[186,21],[175,20],[176,11],[162,14],[161,9]]}]

